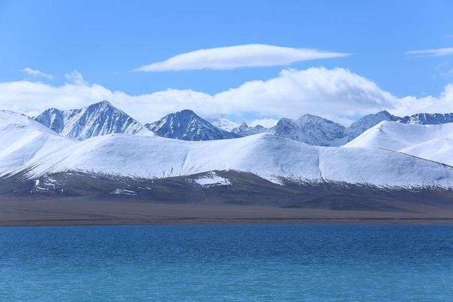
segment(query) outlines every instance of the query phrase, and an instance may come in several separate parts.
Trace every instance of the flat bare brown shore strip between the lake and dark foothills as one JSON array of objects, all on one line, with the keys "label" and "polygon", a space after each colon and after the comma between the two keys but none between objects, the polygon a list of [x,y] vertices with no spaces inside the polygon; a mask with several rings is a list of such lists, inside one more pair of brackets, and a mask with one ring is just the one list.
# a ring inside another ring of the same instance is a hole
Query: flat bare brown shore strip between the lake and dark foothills
[{"label": "flat bare brown shore strip between the lake and dark foothills", "polygon": [[130,224],[453,224],[453,207],[337,211],[100,200],[0,200],[0,227]]}]

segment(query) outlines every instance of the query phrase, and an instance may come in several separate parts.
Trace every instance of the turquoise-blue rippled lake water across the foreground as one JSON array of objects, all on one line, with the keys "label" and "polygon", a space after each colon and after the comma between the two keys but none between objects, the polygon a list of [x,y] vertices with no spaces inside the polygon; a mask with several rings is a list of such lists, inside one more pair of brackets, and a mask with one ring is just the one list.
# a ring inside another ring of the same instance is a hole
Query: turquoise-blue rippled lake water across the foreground
[{"label": "turquoise-blue rippled lake water across the foreground", "polygon": [[452,301],[453,227],[0,228],[0,301]]}]

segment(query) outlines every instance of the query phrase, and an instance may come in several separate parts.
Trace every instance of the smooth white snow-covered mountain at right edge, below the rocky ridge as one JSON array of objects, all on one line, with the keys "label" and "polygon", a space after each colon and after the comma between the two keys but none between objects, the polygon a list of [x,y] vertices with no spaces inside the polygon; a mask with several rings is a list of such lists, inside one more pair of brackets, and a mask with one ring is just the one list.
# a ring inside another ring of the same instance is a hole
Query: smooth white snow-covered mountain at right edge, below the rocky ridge
[{"label": "smooth white snow-covered mountain at right edge, below the rocky ridge", "polygon": [[403,124],[382,121],[345,145],[383,148],[453,165],[453,123]]}]

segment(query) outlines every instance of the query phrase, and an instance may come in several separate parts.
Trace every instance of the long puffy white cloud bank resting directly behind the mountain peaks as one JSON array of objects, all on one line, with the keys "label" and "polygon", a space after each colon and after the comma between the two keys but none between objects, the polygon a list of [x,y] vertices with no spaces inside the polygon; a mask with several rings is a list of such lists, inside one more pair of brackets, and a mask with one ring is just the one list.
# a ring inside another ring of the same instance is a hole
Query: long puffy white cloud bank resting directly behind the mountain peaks
[{"label": "long puffy white cloud bank resting directly behind the mountain peaks", "polygon": [[381,110],[395,115],[453,112],[453,84],[445,86],[438,96],[396,97],[342,68],[284,69],[275,78],[244,82],[214,95],[178,89],[130,95],[86,83],[80,73],[70,75],[71,82],[60,86],[28,80],[0,82],[0,108],[37,115],[50,107],[80,108],[109,100],[143,123],[188,108],[202,117],[235,116],[251,124],[259,119],[271,124],[272,119],[311,113],[345,125]]}]

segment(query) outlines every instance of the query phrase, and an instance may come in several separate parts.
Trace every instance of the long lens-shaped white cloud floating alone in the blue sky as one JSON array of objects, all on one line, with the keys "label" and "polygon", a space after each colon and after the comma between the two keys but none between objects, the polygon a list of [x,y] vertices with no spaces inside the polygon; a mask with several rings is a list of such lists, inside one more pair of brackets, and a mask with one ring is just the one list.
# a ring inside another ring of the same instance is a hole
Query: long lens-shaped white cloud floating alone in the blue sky
[{"label": "long lens-shaped white cloud floating alone in the blue sky", "polygon": [[190,51],[162,62],[139,67],[135,71],[223,70],[240,67],[284,66],[293,62],[344,56],[349,56],[349,54],[316,49],[248,44]]}]

